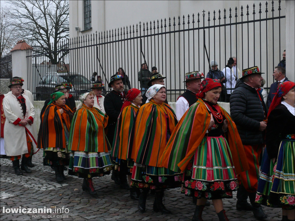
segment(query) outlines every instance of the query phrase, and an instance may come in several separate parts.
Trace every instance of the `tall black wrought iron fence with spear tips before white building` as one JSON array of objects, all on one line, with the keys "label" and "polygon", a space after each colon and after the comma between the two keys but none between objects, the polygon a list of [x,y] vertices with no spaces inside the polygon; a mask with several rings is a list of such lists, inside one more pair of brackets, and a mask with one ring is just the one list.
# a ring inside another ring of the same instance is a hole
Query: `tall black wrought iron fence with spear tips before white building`
[{"label": "tall black wrought iron fence with spear tips before white building", "polygon": [[[262,76],[268,89],[273,82],[273,67],[279,63],[285,49],[286,19],[281,7],[281,1],[272,1],[271,5],[266,1],[258,6],[202,11],[201,14],[139,22],[71,38],[58,46],[60,50],[68,51],[58,65],[44,62],[46,57],[42,46],[33,47],[27,53],[28,64],[32,66],[28,68],[29,90],[37,97],[41,94],[48,97],[49,92],[42,91],[42,87],[52,92],[54,84],[61,80],[69,80],[71,75],[82,75],[85,79],[80,77],[76,84],[74,82],[73,93],[78,95],[90,90],[91,75],[98,72],[108,92],[107,83],[119,67],[125,70],[131,87],[140,88],[137,73],[140,64],[146,62],[149,70],[156,66],[158,72],[166,77],[168,98],[175,101],[185,90],[186,72],[198,70],[206,77],[210,65],[205,46],[209,61],[216,60],[221,70],[233,56],[240,72],[257,65],[261,72],[265,72]],[[59,74],[53,77],[49,72]],[[45,79],[46,73],[51,79]]]}]

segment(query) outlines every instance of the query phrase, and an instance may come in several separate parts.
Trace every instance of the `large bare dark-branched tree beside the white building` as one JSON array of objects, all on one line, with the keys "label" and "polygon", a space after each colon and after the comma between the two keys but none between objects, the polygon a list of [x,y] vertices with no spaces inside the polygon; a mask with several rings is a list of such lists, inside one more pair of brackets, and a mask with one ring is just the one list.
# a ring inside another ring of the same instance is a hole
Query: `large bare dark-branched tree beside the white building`
[{"label": "large bare dark-branched tree beside the white building", "polygon": [[63,44],[69,36],[68,1],[15,0],[11,5],[19,37],[42,45],[44,55],[52,64],[58,64],[68,53]]}]

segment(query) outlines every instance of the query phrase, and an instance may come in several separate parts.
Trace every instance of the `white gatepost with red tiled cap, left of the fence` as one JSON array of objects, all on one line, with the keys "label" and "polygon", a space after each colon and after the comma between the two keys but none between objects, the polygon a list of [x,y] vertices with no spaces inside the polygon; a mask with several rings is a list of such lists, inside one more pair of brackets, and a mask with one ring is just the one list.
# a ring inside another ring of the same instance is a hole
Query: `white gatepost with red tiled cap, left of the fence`
[{"label": "white gatepost with red tiled cap, left of the fence", "polygon": [[27,50],[32,50],[24,40],[20,40],[11,50],[12,56],[12,77],[22,77],[24,79],[24,89],[28,89],[27,70],[32,67],[32,60],[27,61]]}]

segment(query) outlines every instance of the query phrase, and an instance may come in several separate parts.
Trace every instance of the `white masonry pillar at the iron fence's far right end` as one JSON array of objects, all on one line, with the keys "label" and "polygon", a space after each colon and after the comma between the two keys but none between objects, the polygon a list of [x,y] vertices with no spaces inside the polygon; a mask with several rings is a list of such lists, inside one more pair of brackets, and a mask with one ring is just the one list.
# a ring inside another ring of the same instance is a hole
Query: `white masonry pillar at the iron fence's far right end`
[{"label": "white masonry pillar at the iron fence's far right end", "polygon": [[[295,2],[286,1],[286,77],[289,80],[294,80],[294,69],[295,69],[295,44],[294,44],[294,17],[295,17]],[[282,53],[281,50],[280,53]]]}]

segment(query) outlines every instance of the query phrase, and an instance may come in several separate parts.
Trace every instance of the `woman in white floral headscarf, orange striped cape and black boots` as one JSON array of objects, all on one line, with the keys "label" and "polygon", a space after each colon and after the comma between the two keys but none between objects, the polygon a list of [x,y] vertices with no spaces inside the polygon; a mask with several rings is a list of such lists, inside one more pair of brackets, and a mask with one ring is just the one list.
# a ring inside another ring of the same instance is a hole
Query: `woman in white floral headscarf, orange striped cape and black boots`
[{"label": "woman in white floral headscarf, orange striped cape and black boots", "polygon": [[[149,189],[155,189],[154,212],[170,213],[163,205],[164,189],[180,187],[181,174],[163,168],[160,156],[176,126],[177,119],[172,108],[164,103],[166,89],[155,84],[147,92],[148,103],[137,111],[134,133],[131,135],[128,156],[134,159],[131,187],[142,189],[138,208],[145,212],[145,202]],[[129,155],[131,154],[131,155]]]}]

